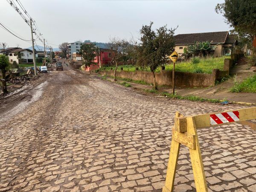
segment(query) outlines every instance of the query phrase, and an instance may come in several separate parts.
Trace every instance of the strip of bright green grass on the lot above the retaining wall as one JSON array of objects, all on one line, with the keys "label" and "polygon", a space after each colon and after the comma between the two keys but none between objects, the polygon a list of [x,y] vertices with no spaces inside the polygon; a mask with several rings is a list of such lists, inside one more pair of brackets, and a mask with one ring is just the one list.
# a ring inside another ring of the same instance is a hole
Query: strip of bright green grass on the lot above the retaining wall
[{"label": "strip of bright green grass on the lot above the retaining wall", "polygon": [[[207,57],[207,58],[199,58],[199,63],[193,64],[191,60],[177,62],[175,64],[175,71],[180,72],[191,72],[191,73],[208,73],[211,74],[213,69],[223,70],[224,68],[224,59],[230,58],[230,56],[222,56],[222,57]],[[123,67],[124,71],[134,72],[136,70],[136,66],[133,65],[120,65],[117,67],[117,71],[121,71],[121,67]],[[101,67],[100,70],[113,70],[112,67]],[[172,70],[173,64],[166,64],[166,70]],[[142,70],[142,69],[140,69]],[[149,69],[144,69],[145,71],[150,71]],[[160,67],[157,68],[156,72],[160,72]]]}]

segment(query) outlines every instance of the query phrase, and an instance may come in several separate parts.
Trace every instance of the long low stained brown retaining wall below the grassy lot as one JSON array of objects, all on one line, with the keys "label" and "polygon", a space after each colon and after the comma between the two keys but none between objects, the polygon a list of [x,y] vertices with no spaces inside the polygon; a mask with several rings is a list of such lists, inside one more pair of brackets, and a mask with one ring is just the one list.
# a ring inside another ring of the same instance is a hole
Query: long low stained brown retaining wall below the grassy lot
[{"label": "long low stained brown retaining wall below the grassy lot", "polygon": [[[215,84],[219,70],[213,70],[212,74],[175,72],[175,87],[209,87]],[[102,75],[113,76],[114,71],[100,71]],[[153,74],[147,71],[117,71],[116,76],[126,79],[142,80],[153,83]],[[162,70],[155,73],[158,85],[172,86],[172,71]]]}]

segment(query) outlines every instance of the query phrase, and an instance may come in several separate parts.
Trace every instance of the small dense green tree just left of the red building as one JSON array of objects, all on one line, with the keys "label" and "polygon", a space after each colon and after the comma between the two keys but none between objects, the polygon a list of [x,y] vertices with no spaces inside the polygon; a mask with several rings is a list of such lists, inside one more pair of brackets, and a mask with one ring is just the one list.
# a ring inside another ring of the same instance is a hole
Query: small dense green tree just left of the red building
[{"label": "small dense green tree just left of the red building", "polygon": [[82,55],[82,64],[84,64],[85,67],[88,66],[89,71],[90,65],[95,64],[93,61],[95,60],[95,57],[98,55],[98,50],[98,47],[96,47],[94,43],[82,44],[80,47],[79,54]]}]

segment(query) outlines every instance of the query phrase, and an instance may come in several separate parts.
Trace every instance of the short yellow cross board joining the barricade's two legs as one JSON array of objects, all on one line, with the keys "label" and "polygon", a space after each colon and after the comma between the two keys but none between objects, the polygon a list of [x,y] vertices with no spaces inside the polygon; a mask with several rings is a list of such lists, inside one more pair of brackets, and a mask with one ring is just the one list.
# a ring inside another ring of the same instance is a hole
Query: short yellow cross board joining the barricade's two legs
[{"label": "short yellow cross board joining the barricade's two legs", "polygon": [[195,135],[189,134],[187,132],[180,133],[173,129],[172,140],[175,140],[181,143],[182,145],[186,145],[189,148],[195,149]]}]

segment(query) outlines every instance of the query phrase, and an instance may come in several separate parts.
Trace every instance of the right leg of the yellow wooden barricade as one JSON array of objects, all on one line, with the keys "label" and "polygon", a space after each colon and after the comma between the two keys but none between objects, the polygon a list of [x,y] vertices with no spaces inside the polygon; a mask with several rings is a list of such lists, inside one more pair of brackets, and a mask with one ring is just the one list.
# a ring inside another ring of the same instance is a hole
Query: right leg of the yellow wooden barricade
[{"label": "right leg of the yellow wooden barricade", "polygon": [[198,134],[195,127],[195,119],[193,117],[187,118],[187,132],[195,135],[195,149],[189,148],[192,169],[195,179],[195,187],[197,192],[208,192],[206,177],[204,173],[204,165],[198,141]]}]

